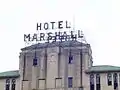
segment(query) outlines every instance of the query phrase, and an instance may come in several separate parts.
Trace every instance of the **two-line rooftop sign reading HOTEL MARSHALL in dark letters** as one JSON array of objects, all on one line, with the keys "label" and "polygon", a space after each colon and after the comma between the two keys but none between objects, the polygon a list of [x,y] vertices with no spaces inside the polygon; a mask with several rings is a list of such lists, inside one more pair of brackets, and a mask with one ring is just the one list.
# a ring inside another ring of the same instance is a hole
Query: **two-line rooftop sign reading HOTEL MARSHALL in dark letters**
[{"label": "two-line rooftop sign reading HOTEL MARSHALL in dark letters", "polygon": [[[52,31],[51,31],[52,30]],[[67,30],[67,31],[66,31]],[[82,38],[80,30],[72,30],[68,21],[45,22],[36,24],[36,33],[24,34],[24,42],[56,42]]]}]

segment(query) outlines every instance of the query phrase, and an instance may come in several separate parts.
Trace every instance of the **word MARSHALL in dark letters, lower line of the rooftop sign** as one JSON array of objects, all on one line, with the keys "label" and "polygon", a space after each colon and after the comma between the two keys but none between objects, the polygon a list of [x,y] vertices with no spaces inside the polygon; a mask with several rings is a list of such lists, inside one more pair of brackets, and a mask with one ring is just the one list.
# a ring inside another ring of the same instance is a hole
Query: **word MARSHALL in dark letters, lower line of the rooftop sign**
[{"label": "word MARSHALL in dark letters, lower line of the rooftop sign", "polygon": [[77,38],[82,38],[81,31],[78,30],[77,34],[74,31],[70,31],[70,33],[67,32],[48,32],[48,33],[34,33],[31,34],[24,34],[24,41],[25,42],[56,42],[56,41],[69,41],[69,40],[77,40]]}]

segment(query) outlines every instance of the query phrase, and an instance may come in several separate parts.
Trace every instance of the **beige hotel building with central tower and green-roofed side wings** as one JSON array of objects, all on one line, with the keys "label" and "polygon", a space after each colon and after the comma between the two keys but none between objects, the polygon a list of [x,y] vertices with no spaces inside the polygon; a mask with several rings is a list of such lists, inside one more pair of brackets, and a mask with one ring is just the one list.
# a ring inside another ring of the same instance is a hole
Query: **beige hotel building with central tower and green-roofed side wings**
[{"label": "beige hotel building with central tower and green-roofed side wings", "polygon": [[0,73],[0,90],[120,90],[120,67],[93,66],[79,41],[35,44],[21,49],[19,70]]}]

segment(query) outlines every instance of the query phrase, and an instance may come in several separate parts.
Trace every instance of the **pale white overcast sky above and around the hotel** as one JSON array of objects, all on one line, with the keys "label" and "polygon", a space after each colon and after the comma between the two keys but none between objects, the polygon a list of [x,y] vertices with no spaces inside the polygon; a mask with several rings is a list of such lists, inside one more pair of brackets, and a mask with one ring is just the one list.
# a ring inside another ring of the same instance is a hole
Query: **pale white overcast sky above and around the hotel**
[{"label": "pale white overcast sky above and around the hotel", "polygon": [[0,0],[0,72],[19,69],[24,34],[36,32],[37,22],[73,18],[94,65],[120,66],[120,0]]}]

